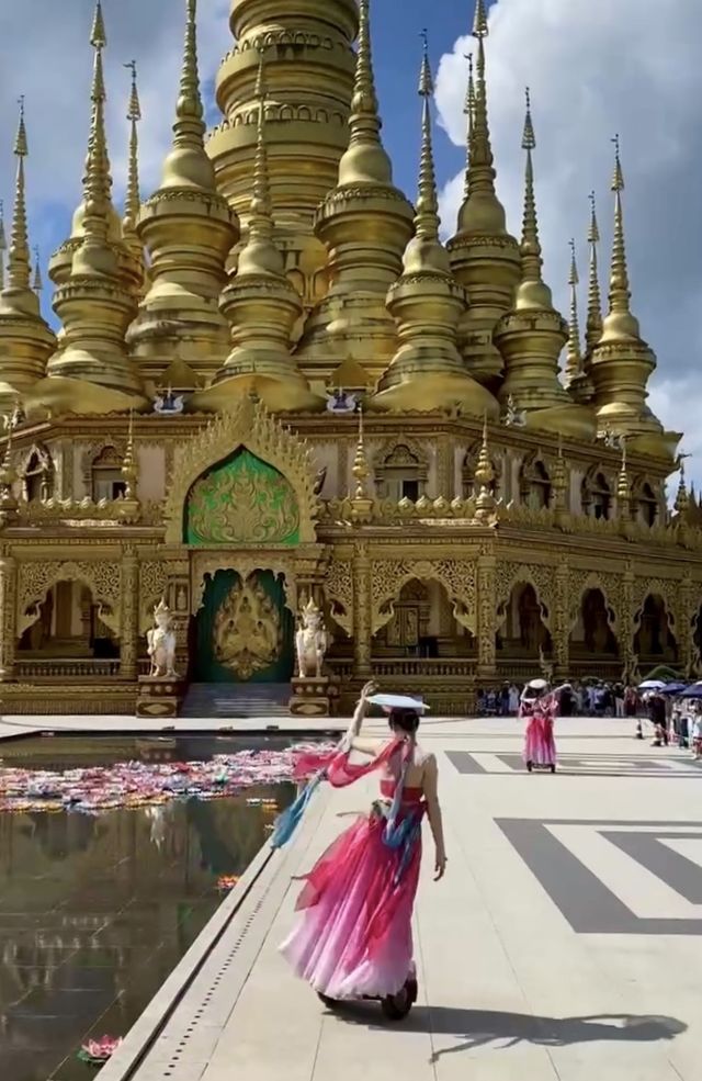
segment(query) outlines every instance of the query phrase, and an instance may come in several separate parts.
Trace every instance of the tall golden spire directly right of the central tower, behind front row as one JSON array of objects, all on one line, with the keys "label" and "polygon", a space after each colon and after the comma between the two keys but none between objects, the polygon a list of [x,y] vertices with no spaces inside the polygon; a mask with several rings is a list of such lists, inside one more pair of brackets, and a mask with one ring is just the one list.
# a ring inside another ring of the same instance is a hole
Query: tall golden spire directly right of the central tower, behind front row
[{"label": "tall golden spire directly right of the central tower, behind front row", "polygon": [[360,0],[359,49],[351,101],[349,147],[339,181],[320,204],[315,232],[329,252],[331,282],[312,309],[297,348],[313,390],[354,362],[377,379],[395,352],[396,331],[385,307],[412,234],[414,210],[393,184],[381,140],[373,78],[369,0]]}]

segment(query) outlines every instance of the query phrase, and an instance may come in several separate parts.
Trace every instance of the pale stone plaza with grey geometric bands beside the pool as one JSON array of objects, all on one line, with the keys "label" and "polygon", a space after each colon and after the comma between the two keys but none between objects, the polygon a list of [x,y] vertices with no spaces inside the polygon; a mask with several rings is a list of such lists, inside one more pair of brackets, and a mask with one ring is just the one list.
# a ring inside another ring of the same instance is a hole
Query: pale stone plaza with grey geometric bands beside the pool
[{"label": "pale stone plaza with grey geometric bands beside the pool", "polygon": [[530,776],[520,731],[422,724],[450,862],[434,885],[427,838],[407,1021],[374,1004],[329,1013],[276,948],[293,877],[340,813],[367,806],[369,782],[322,793],[290,849],[257,858],[101,1081],[697,1081],[702,768],[635,741],[629,722],[579,719],[557,722],[558,774]]}]

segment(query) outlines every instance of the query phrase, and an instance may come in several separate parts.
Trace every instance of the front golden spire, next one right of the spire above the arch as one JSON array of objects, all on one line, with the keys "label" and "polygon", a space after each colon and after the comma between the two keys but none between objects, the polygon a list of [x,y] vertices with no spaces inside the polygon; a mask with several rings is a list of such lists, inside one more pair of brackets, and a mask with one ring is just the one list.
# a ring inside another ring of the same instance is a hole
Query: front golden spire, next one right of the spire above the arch
[{"label": "front golden spire, next one right of the spire above the arch", "polygon": [[419,77],[421,153],[415,235],[405,249],[403,273],[390,286],[387,306],[397,323],[399,349],[381,376],[373,404],[380,408],[432,410],[454,405],[474,416],[499,408],[492,395],[468,375],[456,345],[465,299],[439,239],[439,200],[431,140],[433,80],[429,43]]}]

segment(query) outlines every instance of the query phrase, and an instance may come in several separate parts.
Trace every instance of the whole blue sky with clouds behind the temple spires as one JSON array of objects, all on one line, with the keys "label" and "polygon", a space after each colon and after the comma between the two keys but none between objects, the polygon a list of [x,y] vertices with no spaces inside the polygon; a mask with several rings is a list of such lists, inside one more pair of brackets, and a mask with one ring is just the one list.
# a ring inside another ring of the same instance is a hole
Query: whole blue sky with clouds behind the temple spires
[{"label": "whole blue sky with clouds behind the temple spires", "polygon": [[[66,237],[80,195],[90,113],[94,0],[0,0],[0,198],[12,196],[16,98],[26,94],[32,243],[44,260]],[[283,2],[283,0],[281,0]],[[158,183],[169,139],[184,0],[103,0],[109,48],[107,126],[121,200],[128,95],[126,60],[139,63],[144,194]],[[419,33],[429,30],[438,69],[435,155],[444,228],[461,200],[473,0],[371,0],[375,72],[384,138],[395,181],[411,198],[419,148]],[[650,404],[668,427],[687,430],[686,450],[702,457],[702,40],[700,0],[492,0],[487,42],[488,97],[498,194],[519,235],[523,188],[523,90],[532,89],[536,199],[544,272],[561,311],[568,308],[568,240],[586,278],[588,193],[598,194],[602,294],[611,238],[611,137],[619,132],[633,309],[658,356]],[[230,45],[229,0],[200,0],[201,71],[212,79]],[[660,27],[665,27],[661,34]],[[626,47],[623,48],[623,43]],[[31,59],[31,63],[29,60]],[[449,134],[446,134],[449,133]],[[47,302],[50,289],[45,290]],[[581,306],[585,290],[581,290]],[[702,481],[702,466],[694,466]]]}]

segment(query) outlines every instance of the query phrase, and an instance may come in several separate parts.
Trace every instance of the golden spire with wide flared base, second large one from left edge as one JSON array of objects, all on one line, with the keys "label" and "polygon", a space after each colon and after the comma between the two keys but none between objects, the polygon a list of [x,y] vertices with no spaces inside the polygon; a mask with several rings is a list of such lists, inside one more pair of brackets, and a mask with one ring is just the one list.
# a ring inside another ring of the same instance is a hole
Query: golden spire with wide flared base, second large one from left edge
[{"label": "golden spire with wide flared base, second large one from left edge", "polygon": [[[105,136],[105,82],[102,54],[107,38],[98,0],[92,30],[92,112],[83,177],[83,203],[77,217],[80,234],[68,245],[70,274],[63,259],[52,263],[58,282],[54,311],[63,324],[61,348],[47,365],[47,378],[35,386],[31,403],[59,413],[105,414],[145,404],[138,373],[129,361],[124,337],[135,313],[123,259],[121,226],[112,202],[112,176]],[[75,219],[76,226],[76,219]],[[59,250],[59,256],[61,255]],[[58,273],[56,269],[58,266]]]}]

